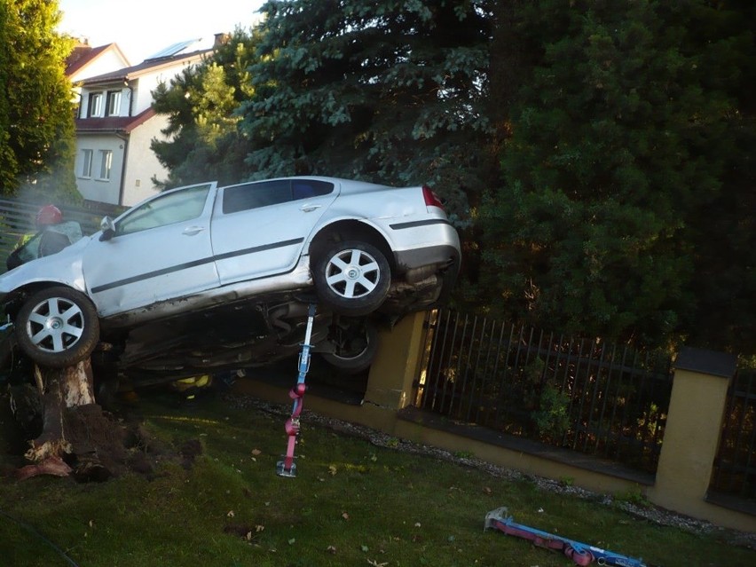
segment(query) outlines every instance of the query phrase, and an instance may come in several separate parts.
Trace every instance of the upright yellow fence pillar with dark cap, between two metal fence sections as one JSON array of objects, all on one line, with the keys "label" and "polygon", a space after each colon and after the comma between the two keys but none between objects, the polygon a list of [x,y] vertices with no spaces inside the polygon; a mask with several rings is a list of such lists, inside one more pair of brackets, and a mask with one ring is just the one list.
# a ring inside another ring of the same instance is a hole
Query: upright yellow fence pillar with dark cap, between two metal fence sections
[{"label": "upright yellow fence pillar with dark cap, between two metal fence sections", "polygon": [[664,444],[650,500],[690,516],[716,521],[705,501],[717,454],[736,357],[683,348],[674,363]]}]

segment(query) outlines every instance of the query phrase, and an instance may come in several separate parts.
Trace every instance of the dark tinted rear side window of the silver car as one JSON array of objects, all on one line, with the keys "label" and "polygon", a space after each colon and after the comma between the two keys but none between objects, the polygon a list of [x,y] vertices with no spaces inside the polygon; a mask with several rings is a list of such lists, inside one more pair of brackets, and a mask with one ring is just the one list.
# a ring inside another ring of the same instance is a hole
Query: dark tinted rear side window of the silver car
[{"label": "dark tinted rear side window of the silver car", "polygon": [[333,191],[333,183],[315,179],[279,179],[232,185],[224,188],[223,212],[228,215],[240,210],[319,197]]}]

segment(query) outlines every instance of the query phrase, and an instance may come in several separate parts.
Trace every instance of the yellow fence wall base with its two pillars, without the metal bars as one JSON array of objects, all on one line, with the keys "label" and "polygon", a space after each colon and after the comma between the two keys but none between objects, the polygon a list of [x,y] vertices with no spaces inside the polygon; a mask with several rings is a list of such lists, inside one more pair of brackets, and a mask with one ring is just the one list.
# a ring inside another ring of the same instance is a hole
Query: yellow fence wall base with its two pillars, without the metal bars
[{"label": "yellow fence wall base with its two pillars, without the metal bars", "polygon": [[[361,406],[308,394],[306,407],[382,430],[393,437],[451,452],[472,453],[484,461],[526,474],[555,480],[570,478],[575,485],[594,492],[640,491],[651,503],[662,508],[723,527],[756,532],[756,516],[707,500],[728,384],[736,369],[734,356],[681,350],[675,362],[657,474],[634,477],[615,471],[610,462],[597,462],[581,453],[530,442],[504,443],[504,436],[495,432],[482,434],[480,428],[474,432],[463,427],[455,429],[448,423],[439,427],[432,416],[413,415],[413,382],[423,348],[423,320],[424,314],[418,313],[400,321],[390,332],[382,333],[378,358],[370,370]],[[240,382],[238,388],[273,402],[290,403],[287,390],[270,384],[249,380]]]}]

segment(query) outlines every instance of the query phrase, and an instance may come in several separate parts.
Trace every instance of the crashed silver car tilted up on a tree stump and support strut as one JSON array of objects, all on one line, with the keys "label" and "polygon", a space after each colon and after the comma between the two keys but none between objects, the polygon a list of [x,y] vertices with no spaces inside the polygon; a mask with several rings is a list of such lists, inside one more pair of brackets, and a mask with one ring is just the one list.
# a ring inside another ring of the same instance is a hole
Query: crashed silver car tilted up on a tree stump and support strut
[{"label": "crashed silver car tilted up on a tree stump and support strut", "polygon": [[265,362],[297,347],[317,303],[314,350],[362,367],[375,335],[356,322],[445,300],[460,265],[457,232],[421,186],[202,183],[101,229],[0,276],[19,347],[40,365],[74,365],[98,345],[123,364],[185,374]]}]

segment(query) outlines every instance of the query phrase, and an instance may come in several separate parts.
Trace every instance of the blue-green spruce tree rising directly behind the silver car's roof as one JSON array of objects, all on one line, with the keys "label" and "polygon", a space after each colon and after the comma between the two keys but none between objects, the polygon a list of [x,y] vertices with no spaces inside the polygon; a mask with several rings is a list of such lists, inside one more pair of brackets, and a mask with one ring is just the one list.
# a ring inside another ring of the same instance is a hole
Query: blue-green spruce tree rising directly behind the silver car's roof
[{"label": "blue-green spruce tree rising directly behind the silver car's roof", "polygon": [[491,0],[268,2],[242,108],[252,177],[429,183],[466,215],[492,124]]}]

